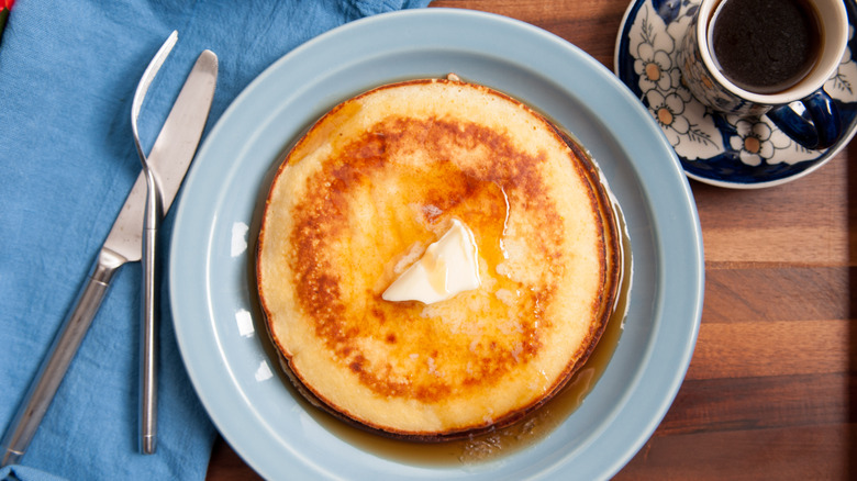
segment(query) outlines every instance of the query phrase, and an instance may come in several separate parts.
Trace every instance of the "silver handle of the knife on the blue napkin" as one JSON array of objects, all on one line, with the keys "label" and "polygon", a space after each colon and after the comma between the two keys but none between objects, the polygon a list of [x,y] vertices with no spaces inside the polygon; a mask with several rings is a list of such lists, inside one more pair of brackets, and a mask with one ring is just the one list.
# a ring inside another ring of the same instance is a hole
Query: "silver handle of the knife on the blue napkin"
[{"label": "silver handle of the knife on the blue napkin", "polygon": [[113,276],[124,262],[123,257],[110,249],[102,248],[99,253],[87,281],[78,293],[74,309],[63,321],[18,412],[7,427],[0,443],[3,449],[0,466],[18,463],[24,456],[63,382],[71,359],[92,324],[92,318],[101,306]]}]

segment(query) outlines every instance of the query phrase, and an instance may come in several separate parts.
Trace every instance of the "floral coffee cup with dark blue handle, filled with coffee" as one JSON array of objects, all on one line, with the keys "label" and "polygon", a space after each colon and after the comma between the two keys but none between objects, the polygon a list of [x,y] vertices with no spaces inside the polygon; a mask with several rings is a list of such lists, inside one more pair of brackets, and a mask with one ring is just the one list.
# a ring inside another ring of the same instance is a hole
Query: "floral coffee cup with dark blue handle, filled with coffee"
[{"label": "floral coffee cup with dark blue handle, filled with coffee", "polygon": [[703,104],[722,114],[767,115],[797,143],[820,149],[842,136],[823,86],[847,42],[844,0],[702,0],[678,61]]}]

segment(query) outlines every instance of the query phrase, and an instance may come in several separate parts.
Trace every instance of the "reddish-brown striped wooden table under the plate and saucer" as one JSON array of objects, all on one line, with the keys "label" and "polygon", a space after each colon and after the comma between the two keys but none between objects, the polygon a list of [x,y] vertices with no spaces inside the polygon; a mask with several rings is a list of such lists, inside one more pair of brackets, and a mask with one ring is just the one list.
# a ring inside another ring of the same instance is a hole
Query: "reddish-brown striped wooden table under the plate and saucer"
[{"label": "reddish-brown striped wooden table under the plate and saucer", "polygon": [[[628,0],[438,0],[523,20],[611,68]],[[705,301],[685,383],[616,476],[849,479],[857,476],[857,145],[784,186],[691,182],[705,249]],[[852,235],[855,234],[855,235]],[[855,347],[853,347],[855,346]],[[222,439],[210,480],[256,474]]]}]

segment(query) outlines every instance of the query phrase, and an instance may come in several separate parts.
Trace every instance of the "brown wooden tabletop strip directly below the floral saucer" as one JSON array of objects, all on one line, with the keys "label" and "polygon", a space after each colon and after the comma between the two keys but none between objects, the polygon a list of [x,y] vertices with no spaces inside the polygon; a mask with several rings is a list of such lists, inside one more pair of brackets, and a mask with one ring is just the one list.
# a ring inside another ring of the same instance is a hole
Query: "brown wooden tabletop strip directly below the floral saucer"
[{"label": "brown wooden tabletop strip directly below the floral saucer", "polygon": [[[852,150],[844,154],[850,156]],[[850,265],[854,210],[847,199],[857,179],[843,157],[769,189],[727,190],[693,182],[706,265]]]}]

